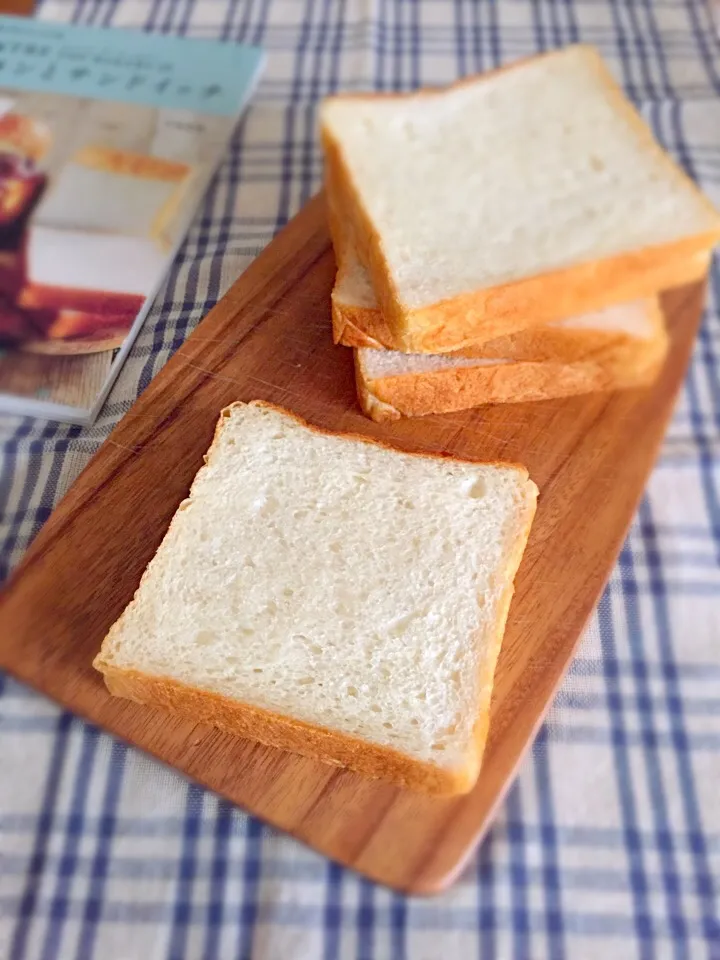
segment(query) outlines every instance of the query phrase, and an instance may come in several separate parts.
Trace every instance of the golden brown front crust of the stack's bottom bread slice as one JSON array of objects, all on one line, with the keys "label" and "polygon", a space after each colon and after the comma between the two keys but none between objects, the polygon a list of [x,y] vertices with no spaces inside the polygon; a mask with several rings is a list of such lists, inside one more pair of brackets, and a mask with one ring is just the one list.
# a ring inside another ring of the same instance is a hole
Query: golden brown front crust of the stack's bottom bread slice
[{"label": "golden brown front crust of the stack's bottom bread slice", "polygon": [[664,329],[650,341],[606,350],[577,363],[514,361],[448,367],[371,378],[355,353],[363,412],[372,420],[451,413],[494,403],[525,403],[599,390],[645,386],[657,376],[668,346]]}]

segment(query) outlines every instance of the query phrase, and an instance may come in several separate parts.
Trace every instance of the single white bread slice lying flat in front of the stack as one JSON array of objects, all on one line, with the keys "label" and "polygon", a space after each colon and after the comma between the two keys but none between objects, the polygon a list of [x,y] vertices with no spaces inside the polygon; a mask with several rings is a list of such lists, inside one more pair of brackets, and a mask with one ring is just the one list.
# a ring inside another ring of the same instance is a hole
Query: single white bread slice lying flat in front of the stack
[{"label": "single white bread slice lying flat in front of the stack", "polygon": [[94,665],[118,696],[467,791],[536,496],[523,467],[233,404]]}]

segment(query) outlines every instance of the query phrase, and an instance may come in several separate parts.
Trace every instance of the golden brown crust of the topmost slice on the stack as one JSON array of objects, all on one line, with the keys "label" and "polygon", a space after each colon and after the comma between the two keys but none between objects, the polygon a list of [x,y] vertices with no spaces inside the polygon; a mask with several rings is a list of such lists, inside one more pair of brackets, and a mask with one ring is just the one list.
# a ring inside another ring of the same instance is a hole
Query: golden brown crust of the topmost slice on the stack
[{"label": "golden brown crust of the topmost slice on the stack", "polygon": [[[588,51],[591,50],[588,48]],[[553,55],[556,54],[546,56]],[[652,133],[594,50],[592,60],[619,111],[630,120],[653,151],[659,150]],[[515,66],[511,65],[509,69]],[[415,97],[436,95],[436,91],[410,94]],[[393,346],[406,352],[460,350],[522,330],[529,323],[535,325],[566,319],[615,303],[651,296],[658,290],[681,286],[696,279],[694,258],[711,250],[720,240],[720,215],[716,214],[717,225],[697,236],[521,278],[426,307],[412,308],[400,299],[387,267],[382,238],[362,204],[341,145],[324,125],[321,138],[326,156],[328,187],[336,196],[336,205],[350,220],[353,242],[370,273],[379,308],[392,331]],[[667,154],[663,153],[663,156],[674,175],[679,173],[684,176]],[[685,179],[693,191],[702,196],[695,184],[689,178]],[[703,201],[708,209],[715,212],[704,197]],[[372,332],[371,335],[374,336]]]}]

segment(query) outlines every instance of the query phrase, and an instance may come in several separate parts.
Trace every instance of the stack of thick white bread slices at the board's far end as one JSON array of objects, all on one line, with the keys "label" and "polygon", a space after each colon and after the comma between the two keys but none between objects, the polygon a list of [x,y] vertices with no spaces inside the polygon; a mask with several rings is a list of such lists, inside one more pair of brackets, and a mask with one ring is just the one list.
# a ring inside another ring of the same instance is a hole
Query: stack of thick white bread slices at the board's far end
[{"label": "stack of thick white bread slices at the board's far end", "polygon": [[658,293],[720,215],[591,47],[444,90],[325,101],[336,342],[375,420],[644,386]]}]

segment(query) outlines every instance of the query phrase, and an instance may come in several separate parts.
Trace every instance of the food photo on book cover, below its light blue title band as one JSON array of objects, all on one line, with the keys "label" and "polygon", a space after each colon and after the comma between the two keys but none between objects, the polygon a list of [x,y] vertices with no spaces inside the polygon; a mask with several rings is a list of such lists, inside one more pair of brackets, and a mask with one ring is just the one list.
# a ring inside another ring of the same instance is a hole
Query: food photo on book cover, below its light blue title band
[{"label": "food photo on book cover, below its light blue title band", "polygon": [[0,88],[0,394],[18,409],[96,402],[233,124]]}]

